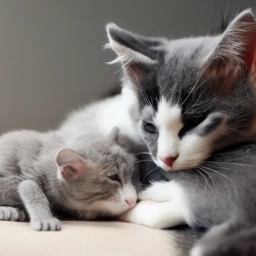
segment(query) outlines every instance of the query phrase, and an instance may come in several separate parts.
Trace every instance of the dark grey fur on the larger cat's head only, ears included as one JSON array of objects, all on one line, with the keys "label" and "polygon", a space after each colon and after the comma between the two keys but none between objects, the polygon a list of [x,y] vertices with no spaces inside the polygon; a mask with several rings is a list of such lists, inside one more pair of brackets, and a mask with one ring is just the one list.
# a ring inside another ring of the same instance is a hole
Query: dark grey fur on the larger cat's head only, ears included
[{"label": "dark grey fur on the larger cat's head only, ears included", "polygon": [[[113,62],[122,62],[124,76],[130,80],[130,86],[137,94],[140,133],[153,159],[157,158],[158,133],[148,133],[143,123],[153,123],[161,98],[182,109],[183,127],[178,134],[180,139],[189,132],[203,137],[224,123],[226,131],[214,141],[211,151],[245,140],[255,140],[255,85],[248,67],[240,58],[244,54],[242,43],[246,45],[247,41],[243,38],[242,42],[242,38],[235,37],[235,29],[244,29],[245,32],[251,29],[252,36],[256,34],[256,20],[250,10],[247,13],[248,17],[237,22],[244,25],[233,24],[223,33],[223,37],[204,36],[170,41],[162,38],[145,39],[112,23],[107,25],[110,40],[107,47],[112,46],[117,52],[118,57]],[[126,53],[129,50],[134,57]],[[225,61],[219,63],[219,58],[225,59],[226,64]],[[223,73],[218,65],[222,67]],[[221,115],[217,123],[211,120],[211,114]],[[198,124],[205,119],[211,125],[199,127]]]}]

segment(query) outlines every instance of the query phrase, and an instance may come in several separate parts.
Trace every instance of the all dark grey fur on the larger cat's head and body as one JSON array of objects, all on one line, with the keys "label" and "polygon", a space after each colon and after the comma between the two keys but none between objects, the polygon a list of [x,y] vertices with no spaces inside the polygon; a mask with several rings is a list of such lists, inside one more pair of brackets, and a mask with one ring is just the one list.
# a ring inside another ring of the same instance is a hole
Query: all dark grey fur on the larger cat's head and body
[{"label": "all dark grey fur on the larger cat's head and body", "polygon": [[[242,60],[250,39],[239,36],[250,31],[251,40],[255,40],[256,20],[250,10],[243,15],[223,35],[167,43],[159,40],[157,45],[148,45],[144,38],[114,24],[107,25],[108,46],[118,55],[112,63],[123,64],[124,76],[137,94],[140,132],[153,159],[157,155],[158,133],[146,132],[142,125],[153,122],[161,98],[182,109],[179,138],[189,132],[204,137],[220,123],[227,127],[214,141],[211,153],[231,148],[213,153],[196,168],[163,172],[185,192],[190,227],[211,228],[197,244],[200,251],[192,255],[220,255],[212,251],[224,246],[222,239],[226,235],[256,224],[256,144],[234,146],[255,141],[255,79]],[[210,125],[198,125],[207,118]],[[187,160],[192,158],[193,155]]]}]

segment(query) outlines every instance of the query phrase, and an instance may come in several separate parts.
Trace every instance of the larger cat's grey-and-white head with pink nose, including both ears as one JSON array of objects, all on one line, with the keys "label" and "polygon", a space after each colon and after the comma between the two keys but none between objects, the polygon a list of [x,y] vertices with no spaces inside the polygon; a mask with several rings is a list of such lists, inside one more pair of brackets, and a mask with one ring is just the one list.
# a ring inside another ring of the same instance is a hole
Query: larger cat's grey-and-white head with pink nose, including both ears
[{"label": "larger cat's grey-and-white head with pink nose, including both ears", "polygon": [[239,13],[217,36],[167,40],[113,23],[109,43],[136,95],[139,132],[165,170],[198,166],[256,131],[256,19]]}]

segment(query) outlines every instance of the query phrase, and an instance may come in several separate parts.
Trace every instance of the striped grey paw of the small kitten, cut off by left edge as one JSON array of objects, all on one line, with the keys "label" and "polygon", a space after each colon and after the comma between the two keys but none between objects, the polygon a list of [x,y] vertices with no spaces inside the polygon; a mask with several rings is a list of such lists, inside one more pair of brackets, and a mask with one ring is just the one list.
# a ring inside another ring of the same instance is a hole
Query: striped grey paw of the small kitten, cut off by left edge
[{"label": "striped grey paw of the small kitten, cut off by left edge", "polygon": [[22,209],[0,206],[0,220],[25,221],[26,215]]}]

